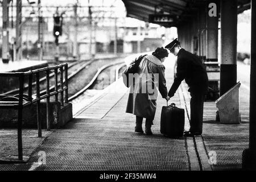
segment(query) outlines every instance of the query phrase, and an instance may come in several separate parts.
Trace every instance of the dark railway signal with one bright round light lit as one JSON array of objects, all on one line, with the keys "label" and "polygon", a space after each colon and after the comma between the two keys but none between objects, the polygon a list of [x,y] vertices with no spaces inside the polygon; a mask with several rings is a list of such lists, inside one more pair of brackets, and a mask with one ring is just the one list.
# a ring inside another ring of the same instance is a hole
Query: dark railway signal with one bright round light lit
[{"label": "dark railway signal with one bright round light lit", "polygon": [[59,15],[59,13],[54,14],[53,20],[53,36],[55,36],[55,45],[56,45],[56,55],[55,55],[55,61],[59,61],[60,56],[60,48],[59,48],[59,36],[62,35],[62,16]]}]

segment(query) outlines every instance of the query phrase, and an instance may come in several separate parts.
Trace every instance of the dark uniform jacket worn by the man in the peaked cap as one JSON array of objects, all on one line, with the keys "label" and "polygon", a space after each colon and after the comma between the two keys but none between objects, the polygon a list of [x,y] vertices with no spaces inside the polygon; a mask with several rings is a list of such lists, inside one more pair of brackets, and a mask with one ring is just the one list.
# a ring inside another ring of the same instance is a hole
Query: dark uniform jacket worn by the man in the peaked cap
[{"label": "dark uniform jacket worn by the man in the peaked cap", "polygon": [[177,54],[176,77],[168,92],[168,96],[174,96],[181,81],[184,79],[189,86],[189,92],[207,93],[208,76],[202,61],[198,56],[185,51],[185,49],[180,49]]}]

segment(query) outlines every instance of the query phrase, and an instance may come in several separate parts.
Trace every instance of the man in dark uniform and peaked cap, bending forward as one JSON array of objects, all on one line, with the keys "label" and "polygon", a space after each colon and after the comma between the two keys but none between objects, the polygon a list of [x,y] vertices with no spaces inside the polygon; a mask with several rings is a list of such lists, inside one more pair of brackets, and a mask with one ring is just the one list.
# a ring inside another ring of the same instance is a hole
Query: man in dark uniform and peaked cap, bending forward
[{"label": "man in dark uniform and peaked cap, bending forward", "polygon": [[184,131],[185,137],[201,135],[203,130],[203,110],[204,98],[208,92],[208,76],[200,58],[181,48],[180,42],[175,39],[165,48],[177,56],[176,77],[168,92],[169,97],[173,97],[181,81],[185,79],[191,94],[190,108],[190,129]]}]

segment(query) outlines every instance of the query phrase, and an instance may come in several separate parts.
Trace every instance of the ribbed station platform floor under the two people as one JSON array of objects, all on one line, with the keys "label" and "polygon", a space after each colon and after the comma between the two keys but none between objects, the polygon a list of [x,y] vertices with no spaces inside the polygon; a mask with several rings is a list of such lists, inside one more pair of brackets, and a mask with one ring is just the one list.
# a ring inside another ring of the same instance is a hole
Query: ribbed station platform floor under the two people
[{"label": "ribbed station platform floor under the two people", "polygon": [[[167,88],[173,82],[173,63],[166,60]],[[243,88],[242,88],[243,89]],[[243,92],[243,91],[242,91]],[[241,93],[242,93],[241,92]],[[249,104],[241,94],[242,122],[215,122],[216,105],[205,102],[203,134],[166,138],[160,134],[160,113],[166,105],[159,93],[152,125],[153,135],[134,132],[135,116],[125,113],[129,89],[115,81],[89,102],[73,106],[73,120],[54,130],[32,153],[26,164],[2,164],[7,170],[99,170],[99,171],[210,171],[241,169],[242,151],[249,141]],[[189,93],[183,82],[169,104],[185,109],[189,129]],[[144,126],[144,121],[143,121]],[[143,127],[144,130],[144,127]],[[39,164],[39,152],[46,164]]]}]

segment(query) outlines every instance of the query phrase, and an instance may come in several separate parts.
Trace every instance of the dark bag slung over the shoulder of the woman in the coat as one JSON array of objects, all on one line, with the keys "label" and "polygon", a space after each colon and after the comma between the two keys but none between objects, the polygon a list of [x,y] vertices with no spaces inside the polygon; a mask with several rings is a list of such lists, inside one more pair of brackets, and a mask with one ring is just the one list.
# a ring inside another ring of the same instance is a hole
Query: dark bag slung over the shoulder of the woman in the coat
[{"label": "dark bag slung over the shoulder of the woman in the coat", "polygon": [[134,74],[138,72],[138,68],[139,68],[139,64],[141,64],[141,61],[143,59],[143,57],[145,57],[147,55],[141,55],[139,56],[137,59],[135,59],[134,61],[131,62],[130,66],[127,67],[125,69],[125,71],[123,71],[122,73],[122,77],[123,77],[123,84],[125,84],[125,86],[127,88],[129,88],[131,86],[131,84],[133,84],[133,81],[129,81],[129,74]]}]

